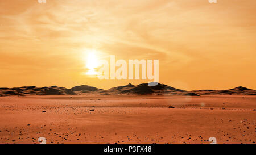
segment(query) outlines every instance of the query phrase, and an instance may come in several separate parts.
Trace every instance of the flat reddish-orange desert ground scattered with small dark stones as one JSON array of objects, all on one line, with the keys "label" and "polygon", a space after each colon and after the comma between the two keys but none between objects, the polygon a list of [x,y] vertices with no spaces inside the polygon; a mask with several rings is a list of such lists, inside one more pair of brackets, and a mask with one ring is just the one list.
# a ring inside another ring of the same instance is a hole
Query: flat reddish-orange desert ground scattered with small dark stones
[{"label": "flat reddish-orange desert ground scattered with small dark stones", "polygon": [[0,143],[255,143],[255,108],[253,96],[0,97]]}]

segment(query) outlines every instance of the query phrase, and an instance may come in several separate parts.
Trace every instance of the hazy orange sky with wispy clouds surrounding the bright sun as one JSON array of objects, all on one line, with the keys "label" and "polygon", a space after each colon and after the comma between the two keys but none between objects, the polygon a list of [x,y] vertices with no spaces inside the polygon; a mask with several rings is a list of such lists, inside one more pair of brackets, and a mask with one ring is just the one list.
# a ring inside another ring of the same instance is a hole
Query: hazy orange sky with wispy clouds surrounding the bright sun
[{"label": "hazy orange sky with wispy clouds surrounding the bright sun", "polygon": [[147,83],[85,76],[94,49],[158,59],[179,89],[256,89],[255,0],[46,1],[0,0],[0,87]]}]

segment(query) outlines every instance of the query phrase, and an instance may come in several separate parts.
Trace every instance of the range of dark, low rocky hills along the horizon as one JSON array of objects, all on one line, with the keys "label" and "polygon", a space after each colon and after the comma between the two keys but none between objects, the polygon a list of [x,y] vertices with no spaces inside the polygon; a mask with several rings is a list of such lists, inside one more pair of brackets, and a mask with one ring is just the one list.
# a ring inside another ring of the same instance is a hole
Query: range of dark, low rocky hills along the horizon
[{"label": "range of dark, low rocky hills along the horizon", "polygon": [[129,83],[125,86],[112,87],[108,90],[98,89],[97,87],[81,85],[75,86],[71,89],[65,87],[36,87],[24,86],[13,88],[0,88],[0,96],[25,96],[25,95],[256,95],[256,90],[248,89],[246,87],[236,87],[228,90],[192,90],[186,91],[176,89],[164,84],[156,86],[148,86],[148,83],[140,85],[132,85]]}]

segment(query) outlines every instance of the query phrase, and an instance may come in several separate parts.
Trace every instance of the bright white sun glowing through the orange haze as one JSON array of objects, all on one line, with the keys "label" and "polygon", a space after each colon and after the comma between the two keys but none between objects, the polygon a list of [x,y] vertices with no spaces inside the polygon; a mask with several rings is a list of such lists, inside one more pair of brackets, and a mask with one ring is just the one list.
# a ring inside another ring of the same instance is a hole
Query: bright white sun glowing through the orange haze
[{"label": "bright white sun glowing through the orange haze", "polygon": [[86,75],[94,76],[98,73],[96,72],[96,68],[98,67],[98,58],[97,53],[95,50],[91,50],[88,52],[87,60],[86,60],[86,68],[88,68],[88,72],[86,72]]}]

